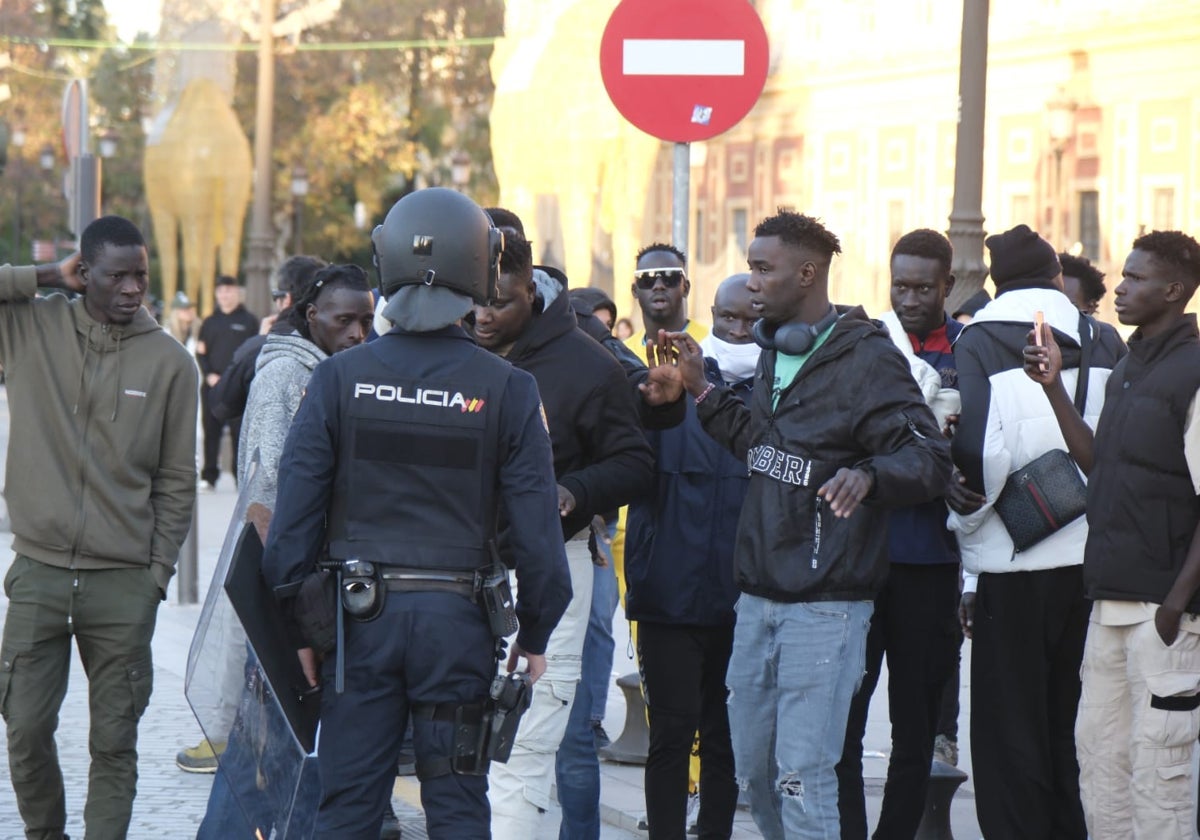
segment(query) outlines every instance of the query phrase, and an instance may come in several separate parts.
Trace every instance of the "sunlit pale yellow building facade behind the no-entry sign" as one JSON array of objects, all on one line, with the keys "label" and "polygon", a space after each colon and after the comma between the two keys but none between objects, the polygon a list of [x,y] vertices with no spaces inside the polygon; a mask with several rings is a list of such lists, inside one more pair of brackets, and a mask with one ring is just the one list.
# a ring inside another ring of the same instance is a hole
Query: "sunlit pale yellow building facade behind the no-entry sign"
[{"label": "sunlit pale yellow building facade behind the no-entry sign", "polygon": [[[599,40],[614,5],[510,1],[492,138],[502,200],[532,228],[535,254],[572,284],[612,289],[626,314],[632,253],[670,240],[671,152],[607,102]],[[772,43],[763,96],[691,150],[692,311],[707,316],[754,226],[787,206],[841,238],[834,298],[880,312],[896,238],[948,227],[961,6],[756,6]],[[517,59],[536,67],[521,85]],[[1139,233],[1200,234],[1200,0],[994,2],[988,64],[989,232],[1025,222],[1091,257],[1110,288]],[[530,131],[557,145],[530,148]]]}]

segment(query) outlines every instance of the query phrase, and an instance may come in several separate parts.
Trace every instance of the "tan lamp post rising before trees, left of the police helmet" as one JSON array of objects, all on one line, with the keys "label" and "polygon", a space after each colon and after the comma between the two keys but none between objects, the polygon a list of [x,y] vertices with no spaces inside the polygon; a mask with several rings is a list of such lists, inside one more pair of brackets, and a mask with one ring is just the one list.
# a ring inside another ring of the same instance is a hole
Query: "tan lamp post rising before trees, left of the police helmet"
[{"label": "tan lamp post rising before trees, left of the police helmet", "polygon": [[258,98],[254,104],[254,202],[246,250],[246,308],[271,311],[271,125],[275,106],[275,0],[260,0]]}]

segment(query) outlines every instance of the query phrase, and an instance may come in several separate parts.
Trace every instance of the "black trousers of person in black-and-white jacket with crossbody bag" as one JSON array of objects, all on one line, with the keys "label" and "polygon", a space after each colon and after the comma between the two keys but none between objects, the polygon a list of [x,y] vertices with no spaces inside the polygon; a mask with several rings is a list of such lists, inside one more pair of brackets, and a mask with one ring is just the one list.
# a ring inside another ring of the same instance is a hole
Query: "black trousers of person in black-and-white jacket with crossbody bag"
[{"label": "black trousers of person in black-and-white jacket with crossbody bag", "polygon": [[1087,836],[1075,713],[1090,613],[1082,566],[979,576],[971,764],[989,840]]}]

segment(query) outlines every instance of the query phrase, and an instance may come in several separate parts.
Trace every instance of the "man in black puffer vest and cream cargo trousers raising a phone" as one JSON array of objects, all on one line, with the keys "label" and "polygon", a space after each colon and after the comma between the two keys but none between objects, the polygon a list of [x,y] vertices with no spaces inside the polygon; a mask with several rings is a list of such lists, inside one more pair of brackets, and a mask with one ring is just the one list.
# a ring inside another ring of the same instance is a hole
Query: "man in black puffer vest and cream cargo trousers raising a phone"
[{"label": "man in black puffer vest and cream cargo trousers raising a phone", "polygon": [[1200,286],[1200,244],[1178,230],[1139,236],[1121,274],[1117,317],[1138,330],[1109,377],[1094,438],[1063,384],[1050,330],[1046,347],[1025,348],[1025,372],[1042,384],[1087,473],[1084,592],[1092,606],[1075,724],[1087,835],[1192,838],[1200,332],[1184,310]]}]

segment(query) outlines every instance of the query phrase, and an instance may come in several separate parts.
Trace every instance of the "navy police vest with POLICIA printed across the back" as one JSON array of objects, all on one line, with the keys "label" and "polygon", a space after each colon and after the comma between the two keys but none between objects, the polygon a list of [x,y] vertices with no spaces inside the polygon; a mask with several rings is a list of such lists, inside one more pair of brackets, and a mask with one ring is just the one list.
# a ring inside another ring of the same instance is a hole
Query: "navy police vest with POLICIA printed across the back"
[{"label": "navy police vest with POLICIA printed across the back", "polygon": [[491,563],[511,367],[476,348],[448,365],[439,343],[372,342],[343,380],[334,559],[437,571]]}]

